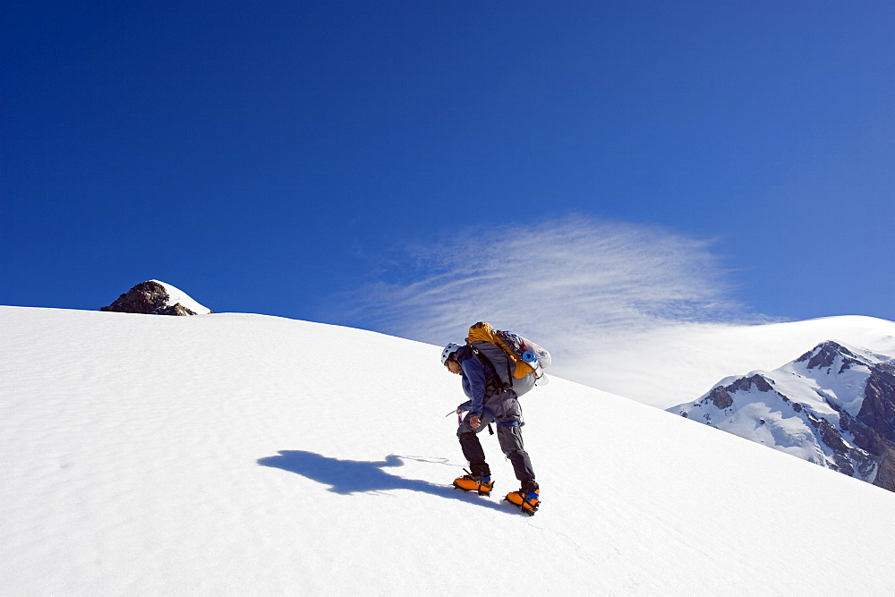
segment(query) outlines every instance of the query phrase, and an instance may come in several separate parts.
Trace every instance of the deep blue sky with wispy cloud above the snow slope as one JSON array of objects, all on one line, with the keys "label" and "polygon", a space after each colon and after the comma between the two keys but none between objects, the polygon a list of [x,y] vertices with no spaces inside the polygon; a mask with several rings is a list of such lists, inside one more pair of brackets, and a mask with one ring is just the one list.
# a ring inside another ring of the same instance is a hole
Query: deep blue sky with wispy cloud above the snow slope
[{"label": "deep blue sky with wispy cloud above the snow slope", "polygon": [[891,2],[2,12],[0,303],[895,320]]}]

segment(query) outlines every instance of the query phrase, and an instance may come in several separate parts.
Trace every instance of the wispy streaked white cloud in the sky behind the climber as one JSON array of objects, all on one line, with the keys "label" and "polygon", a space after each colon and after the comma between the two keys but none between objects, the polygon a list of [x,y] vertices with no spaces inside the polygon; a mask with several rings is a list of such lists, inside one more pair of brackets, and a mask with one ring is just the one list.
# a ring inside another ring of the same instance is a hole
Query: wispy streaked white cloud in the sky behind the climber
[{"label": "wispy streaked white cloud in the sky behind the climber", "polygon": [[436,345],[490,321],[548,347],[557,374],[593,384],[587,371],[624,338],[743,319],[727,278],[710,242],[659,226],[482,226],[406,246],[351,297],[348,319]]}]

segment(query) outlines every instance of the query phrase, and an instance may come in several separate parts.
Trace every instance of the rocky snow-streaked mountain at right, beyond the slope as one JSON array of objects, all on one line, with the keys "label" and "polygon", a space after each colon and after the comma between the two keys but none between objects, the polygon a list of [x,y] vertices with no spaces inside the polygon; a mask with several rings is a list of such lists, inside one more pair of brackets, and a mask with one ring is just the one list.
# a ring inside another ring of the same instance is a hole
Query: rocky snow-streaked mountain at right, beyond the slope
[{"label": "rocky snow-streaked mountain at right, beyond the slope", "polygon": [[895,491],[895,358],[823,342],[668,409]]}]

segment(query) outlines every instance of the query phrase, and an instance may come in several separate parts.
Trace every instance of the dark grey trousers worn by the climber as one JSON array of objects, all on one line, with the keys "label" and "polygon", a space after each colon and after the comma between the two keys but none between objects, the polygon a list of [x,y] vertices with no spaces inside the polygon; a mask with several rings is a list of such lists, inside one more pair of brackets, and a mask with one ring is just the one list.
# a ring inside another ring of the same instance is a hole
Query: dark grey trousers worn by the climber
[{"label": "dark grey trousers worn by the climber", "polygon": [[500,449],[513,464],[513,471],[516,473],[516,479],[522,482],[522,489],[526,491],[538,489],[538,483],[534,481],[532,460],[528,457],[528,452],[525,451],[522,430],[516,418],[499,418],[495,421],[493,415],[484,413],[482,414],[482,424],[478,429],[473,429],[469,424],[469,417],[470,414],[467,413],[460,429],[456,431],[463,456],[469,462],[469,472],[477,477],[490,476],[491,469],[485,462],[485,452],[482,450],[482,442],[479,441],[478,433],[488,427],[488,423],[495,422]]}]

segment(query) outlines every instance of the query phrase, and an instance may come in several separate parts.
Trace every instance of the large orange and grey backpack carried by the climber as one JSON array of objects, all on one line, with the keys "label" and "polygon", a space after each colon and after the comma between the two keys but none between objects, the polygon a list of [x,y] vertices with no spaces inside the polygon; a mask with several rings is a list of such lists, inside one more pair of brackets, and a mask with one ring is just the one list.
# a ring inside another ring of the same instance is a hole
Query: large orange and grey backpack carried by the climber
[{"label": "large orange and grey backpack carried by the climber", "polygon": [[522,396],[535,384],[547,384],[543,370],[550,367],[550,353],[524,337],[479,321],[469,328],[466,344],[491,363],[501,388],[512,388],[517,396]]}]

